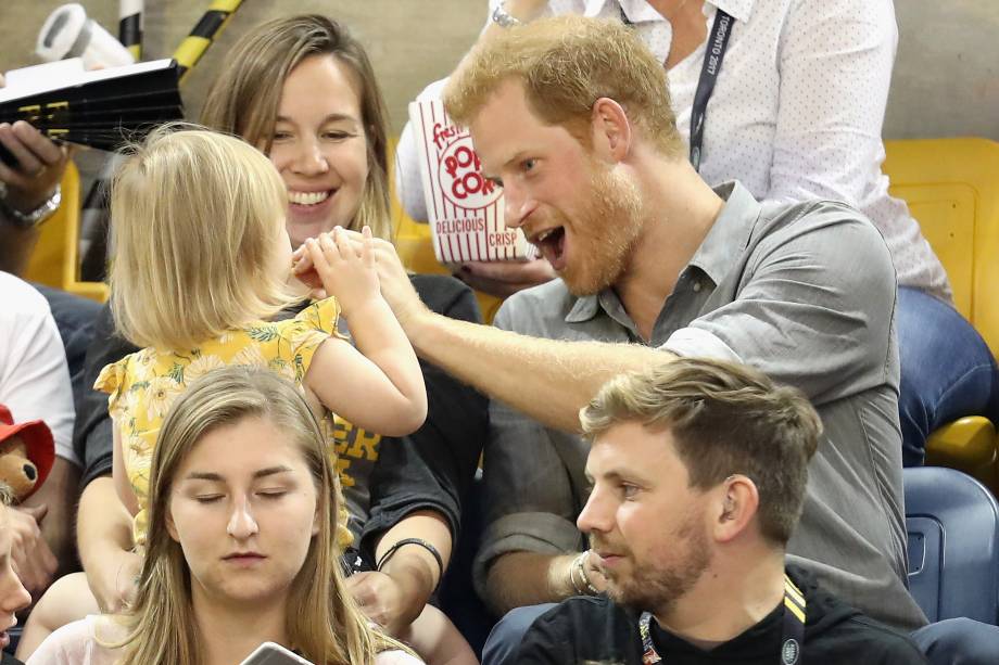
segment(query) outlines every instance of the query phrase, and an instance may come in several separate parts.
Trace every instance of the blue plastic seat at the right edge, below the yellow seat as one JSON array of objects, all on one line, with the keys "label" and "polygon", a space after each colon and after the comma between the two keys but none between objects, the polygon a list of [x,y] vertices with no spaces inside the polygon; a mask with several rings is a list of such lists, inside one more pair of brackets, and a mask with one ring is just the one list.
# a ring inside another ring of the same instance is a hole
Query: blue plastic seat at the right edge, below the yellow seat
[{"label": "blue plastic seat at the right edge, below the yellow seat", "polygon": [[999,618],[999,504],[953,469],[905,469],[909,590],[931,622]]}]

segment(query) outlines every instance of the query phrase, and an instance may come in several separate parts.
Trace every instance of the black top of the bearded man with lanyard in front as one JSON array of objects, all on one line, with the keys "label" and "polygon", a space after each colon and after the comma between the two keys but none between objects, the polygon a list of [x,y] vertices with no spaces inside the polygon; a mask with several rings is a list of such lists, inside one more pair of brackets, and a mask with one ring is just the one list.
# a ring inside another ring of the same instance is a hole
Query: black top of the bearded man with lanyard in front
[{"label": "black top of the bearded man with lanyard in front", "polygon": [[[808,665],[927,662],[908,637],[823,591],[801,568],[789,566],[788,574],[807,602],[801,662]],[[777,665],[782,623],[783,603],[742,635],[710,651],[671,635],[655,621],[652,635],[663,665]],[[637,616],[606,597],[571,598],[538,617],[524,635],[514,662],[641,665]]]}]

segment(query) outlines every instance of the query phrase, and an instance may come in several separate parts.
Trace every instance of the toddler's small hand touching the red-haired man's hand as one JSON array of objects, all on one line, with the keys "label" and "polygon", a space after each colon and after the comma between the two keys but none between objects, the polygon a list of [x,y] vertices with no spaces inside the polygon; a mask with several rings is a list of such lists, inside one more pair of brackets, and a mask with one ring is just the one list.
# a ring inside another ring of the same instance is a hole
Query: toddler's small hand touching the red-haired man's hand
[{"label": "toddler's small hand touching the red-haired man's hand", "polygon": [[[375,252],[371,247],[371,229],[365,227],[363,236],[359,252],[346,239],[340,227],[334,228],[332,234],[323,233],[317,239],[305,241],[305,255],[308,256],[312,270],[318,277],[316,285],[321,284],[328,295],[340,300],[343,316],[349,319],[352,312],[381,297],[378,272],[375,269]],[[299,273],[299,279],[303,279],[303,276],[309,279],[308,269],[300,272],[296,267],[295,272]],[[316,280],[311,281],[316,283]],[[308,281],[305,283],[309,284]]]}]

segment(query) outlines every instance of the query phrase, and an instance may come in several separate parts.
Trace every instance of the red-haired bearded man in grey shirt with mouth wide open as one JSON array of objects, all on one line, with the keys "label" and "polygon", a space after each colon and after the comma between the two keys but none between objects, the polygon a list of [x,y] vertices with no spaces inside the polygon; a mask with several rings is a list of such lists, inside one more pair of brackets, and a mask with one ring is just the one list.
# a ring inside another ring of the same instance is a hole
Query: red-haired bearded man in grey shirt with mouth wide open
[{"label": "red-haired bearded man in grey shirt with mouth wide open", "polygon": [[503,31],[463,62],[444,104],[503,186],[506,223],[561,278],[507,299],[506,330],[465,324],[423,307],[378,245],[382,291],[417,353],[494,398],[476,562],[486,602],[502,613],[603,589],[574,527],[579,409],[621,372],[705,357],[797,387],[822,419],[792,563],[894,628],[925,625],[906,589],[896,279],[871,222],[842,203],[709,187],[661,64],[618,22]]}]

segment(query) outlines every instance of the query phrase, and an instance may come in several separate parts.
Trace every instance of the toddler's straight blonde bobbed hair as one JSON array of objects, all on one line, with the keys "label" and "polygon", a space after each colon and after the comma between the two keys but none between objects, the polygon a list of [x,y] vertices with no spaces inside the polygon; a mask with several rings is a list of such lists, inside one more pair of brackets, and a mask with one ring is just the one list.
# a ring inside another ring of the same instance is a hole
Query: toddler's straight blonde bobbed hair
[{"label": "toddler's straight blonde bobbed hair", "polygon": [[301,299],[275,274],[288,195],[266,156],[190,124],[127,152],[111,188],[111,308],[126,340],[193,348]]}]

